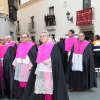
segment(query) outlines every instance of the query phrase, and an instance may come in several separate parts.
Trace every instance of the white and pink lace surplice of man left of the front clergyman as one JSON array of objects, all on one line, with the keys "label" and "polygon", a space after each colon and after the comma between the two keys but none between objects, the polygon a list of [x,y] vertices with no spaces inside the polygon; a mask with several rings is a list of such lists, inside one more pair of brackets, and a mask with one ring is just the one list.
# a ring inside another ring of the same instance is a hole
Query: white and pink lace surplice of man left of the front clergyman
[{"label": "white and pink lace surplice of man left of the front clergyman", "polygon": [[30,75],[30,69],[33,66],[29,57],[27,56],[26,59],[15,58],[13,66],[16,67],[14,79],[19,82],[27,82]]}]

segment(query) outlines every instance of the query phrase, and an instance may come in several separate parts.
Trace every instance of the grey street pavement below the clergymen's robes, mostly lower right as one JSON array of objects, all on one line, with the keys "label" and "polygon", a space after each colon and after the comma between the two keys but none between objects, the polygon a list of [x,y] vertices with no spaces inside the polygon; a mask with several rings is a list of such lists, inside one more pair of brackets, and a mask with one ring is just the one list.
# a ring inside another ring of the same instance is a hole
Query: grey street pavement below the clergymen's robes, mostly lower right
[{"label": "grey street pavement below the clergymen's robes, mostly lower right", "polygon": [[[100,100],[100,78],[97,78],[97,82],[98,88],[93,88],[84,92],[71,92],[68,90],[69,100]],[[0,100],[8,99],[2,98]]]}]

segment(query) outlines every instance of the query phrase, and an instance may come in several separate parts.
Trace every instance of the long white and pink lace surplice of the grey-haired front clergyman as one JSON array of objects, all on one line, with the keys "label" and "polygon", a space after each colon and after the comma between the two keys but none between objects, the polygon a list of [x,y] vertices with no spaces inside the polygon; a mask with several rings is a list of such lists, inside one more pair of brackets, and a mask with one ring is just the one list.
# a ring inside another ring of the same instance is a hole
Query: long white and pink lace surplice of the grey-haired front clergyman
[{"label": "long white and pink lace surplice of the grey-haired front clergyman", "polygon": [[37,64],[36,69],[36,82],[35,93],[36,94],[53,94],[53,78],[52,78],[52,65],[51,58],[46,60],[48,65],[43,63]]}]

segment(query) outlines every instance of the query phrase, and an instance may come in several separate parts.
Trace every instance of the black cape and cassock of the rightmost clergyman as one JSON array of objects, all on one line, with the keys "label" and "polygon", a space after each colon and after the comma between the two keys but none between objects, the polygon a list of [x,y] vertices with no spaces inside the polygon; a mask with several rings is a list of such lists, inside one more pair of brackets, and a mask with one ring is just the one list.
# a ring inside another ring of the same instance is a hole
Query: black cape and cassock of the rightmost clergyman
[{"label": "black cape and cassock of the rightmost clergyman", "polygon": [[69,88],[75,91],[91,89],[97,87],[95,75],[95,65],[93,59],[92,45],[88,44],[83,53],[83,72],[72,71],[72,56],[74,47],[72,48],[69,58],[68,67],[66,69],[65,79],[69,83]]}]

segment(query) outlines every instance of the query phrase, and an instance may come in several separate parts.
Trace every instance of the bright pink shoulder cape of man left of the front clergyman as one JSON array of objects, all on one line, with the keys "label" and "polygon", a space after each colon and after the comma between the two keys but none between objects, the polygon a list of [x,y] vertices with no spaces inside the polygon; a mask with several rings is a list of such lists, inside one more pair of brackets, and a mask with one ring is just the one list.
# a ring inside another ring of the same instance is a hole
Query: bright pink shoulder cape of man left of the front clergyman
[{"label": "bright pink shoulder cape of man left of the front clergyman", "polygon": [[32,42],[20,43],[17,49],[16,58],[25,59],[33,45]]}]

